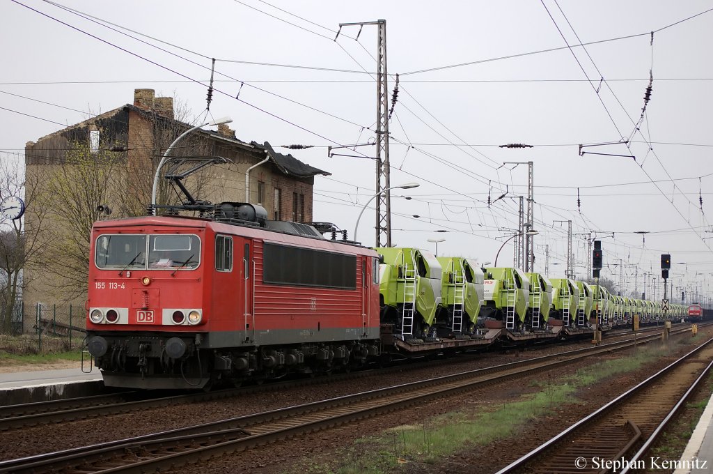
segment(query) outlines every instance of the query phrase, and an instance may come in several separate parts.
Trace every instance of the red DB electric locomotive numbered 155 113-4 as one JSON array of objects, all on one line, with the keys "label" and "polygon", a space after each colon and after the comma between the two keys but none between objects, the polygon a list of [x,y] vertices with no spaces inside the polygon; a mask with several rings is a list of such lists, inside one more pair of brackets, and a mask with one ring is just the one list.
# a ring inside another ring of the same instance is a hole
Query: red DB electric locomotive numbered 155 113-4
[{"label": "red DB electric locomotive numbered 155 113-4", "polygon": [[379,256],[222,203],[95,223],[87,346],[108,386],[203,388],[379,353]]}]

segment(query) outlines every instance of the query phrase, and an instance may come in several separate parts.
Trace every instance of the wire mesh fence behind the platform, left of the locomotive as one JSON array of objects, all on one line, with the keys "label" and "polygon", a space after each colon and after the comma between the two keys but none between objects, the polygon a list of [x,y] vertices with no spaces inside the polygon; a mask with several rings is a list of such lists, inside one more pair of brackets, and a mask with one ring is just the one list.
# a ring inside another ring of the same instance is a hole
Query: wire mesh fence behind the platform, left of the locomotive
[{"label": "wire mesh fence behind the platform, left of the locomotive", "polygon": [[0,351],[47,353],[71,351],[83,346],[86,314],[80,305],[17,301],[6,324],[0,310]]}]

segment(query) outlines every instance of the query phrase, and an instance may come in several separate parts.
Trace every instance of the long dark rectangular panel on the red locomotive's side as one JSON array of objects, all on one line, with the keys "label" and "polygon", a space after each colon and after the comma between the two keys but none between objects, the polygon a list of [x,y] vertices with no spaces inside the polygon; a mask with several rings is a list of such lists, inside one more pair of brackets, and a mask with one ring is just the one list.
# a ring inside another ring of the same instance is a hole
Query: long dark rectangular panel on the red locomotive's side
[{"label": "long dark rectangular panel on the red locomotive's side", "polygon": [[356,256],[265,243],[262,281],[278,285],[356,288]]}]

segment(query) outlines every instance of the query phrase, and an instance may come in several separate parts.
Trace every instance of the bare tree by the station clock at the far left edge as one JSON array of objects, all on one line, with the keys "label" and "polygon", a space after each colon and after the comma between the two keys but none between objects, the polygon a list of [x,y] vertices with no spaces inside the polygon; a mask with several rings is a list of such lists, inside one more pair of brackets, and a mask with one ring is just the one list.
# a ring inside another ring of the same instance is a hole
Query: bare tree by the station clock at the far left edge
[{"label": "bare tree by the station clock at the far left edge", "polygon": [[0,230],[0,305],[2,308],[2,333],[12,332],[12,316],[19,298],[30,283],[26,270],[41,268],[44,253],[52,240],[45,231],[50,203],[46,195],[38,192],[40,173],[26,174],[19,157],[0,160],[0,195],[24,196],[25,214],[21,219],[4,221]]}]

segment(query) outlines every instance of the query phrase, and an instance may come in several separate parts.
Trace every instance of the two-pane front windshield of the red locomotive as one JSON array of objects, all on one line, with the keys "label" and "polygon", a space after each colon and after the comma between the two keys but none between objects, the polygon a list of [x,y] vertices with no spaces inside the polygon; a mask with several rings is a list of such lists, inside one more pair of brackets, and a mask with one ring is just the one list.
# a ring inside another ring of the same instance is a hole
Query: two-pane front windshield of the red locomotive
[{"label": "two-pane front windshield of the red locomotive", "polygon": [[97,268],[193,270],[200,263],[200,239],[193,235],[155,234],[99,236]]}]

